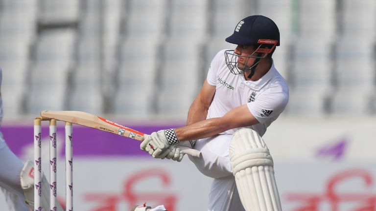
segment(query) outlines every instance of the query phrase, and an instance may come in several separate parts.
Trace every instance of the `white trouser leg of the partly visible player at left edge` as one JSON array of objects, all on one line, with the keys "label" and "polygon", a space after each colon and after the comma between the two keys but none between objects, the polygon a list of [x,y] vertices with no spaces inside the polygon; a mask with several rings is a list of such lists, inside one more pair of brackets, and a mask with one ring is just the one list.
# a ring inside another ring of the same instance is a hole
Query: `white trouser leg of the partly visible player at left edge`
[{"label": "white trouser leg of the partly visible player at left edge", "polygon": [[[0,188],[9,211],[29,211],[21,188],[20,173],[24,164],[8,148],[0,133]],[[6,208],[1,208],[1,210]]]}]

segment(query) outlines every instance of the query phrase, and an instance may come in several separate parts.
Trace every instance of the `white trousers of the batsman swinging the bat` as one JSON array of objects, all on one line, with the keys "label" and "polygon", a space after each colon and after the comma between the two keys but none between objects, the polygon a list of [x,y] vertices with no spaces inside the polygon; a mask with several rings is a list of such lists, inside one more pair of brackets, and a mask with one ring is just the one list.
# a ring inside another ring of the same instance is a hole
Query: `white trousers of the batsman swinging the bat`
[{"label": "white trousers of the batsman swinging the bat", "polygon": [[196,168],[213,178],[208,211],[244,211],[232,173],[229,147],[232,134],[217,135],[196,141],[200,158],[188,156]]}]

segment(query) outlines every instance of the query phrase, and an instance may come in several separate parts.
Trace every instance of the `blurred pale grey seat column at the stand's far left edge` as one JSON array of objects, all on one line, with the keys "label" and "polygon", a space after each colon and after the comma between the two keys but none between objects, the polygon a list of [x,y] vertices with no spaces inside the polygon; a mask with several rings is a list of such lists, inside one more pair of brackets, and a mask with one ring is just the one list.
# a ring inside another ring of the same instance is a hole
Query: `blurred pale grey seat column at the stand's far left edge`
[{"label": "blurred pale grey seat column at the stand's far left edge", "polygon": [[3,0],[0,7],[1,95],[7,115],[24,113],[31,45],[37,31],[36,0]]}]

